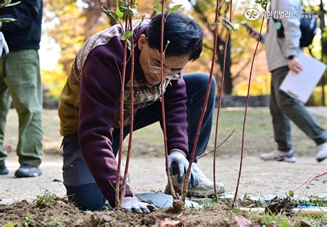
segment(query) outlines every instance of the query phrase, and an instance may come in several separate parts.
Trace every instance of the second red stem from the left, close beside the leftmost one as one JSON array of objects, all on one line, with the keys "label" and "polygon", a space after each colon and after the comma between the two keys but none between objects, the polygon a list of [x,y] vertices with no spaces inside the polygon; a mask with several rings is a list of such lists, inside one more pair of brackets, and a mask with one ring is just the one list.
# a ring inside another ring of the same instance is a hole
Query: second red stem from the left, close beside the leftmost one
[{"label": "second red stem from the left, close beside the leftmost one", "polygon": [[[129,26],[132,31],[132,17],[129,17]],[[126,41],[127,42],[127,41]],[[123,174],[123,187],[121,188],[121,197],[120,202],[123,203],[123,199],[125,197],[126,192],[126,182],[128,178],[128,166],[130,165],[130,152],[132,150],[132,135],[133,135],[133,126],[134,126],[134,88],[133,88],[133,79],[134,79],[134,64],[135,64],[135,56],[134,56],[134,37],[130,37],[131,43],[131,63],[130,63],[130,137],[128,139],[128,150],[126,155],[126,164],[125,164],[125,172]]]}]

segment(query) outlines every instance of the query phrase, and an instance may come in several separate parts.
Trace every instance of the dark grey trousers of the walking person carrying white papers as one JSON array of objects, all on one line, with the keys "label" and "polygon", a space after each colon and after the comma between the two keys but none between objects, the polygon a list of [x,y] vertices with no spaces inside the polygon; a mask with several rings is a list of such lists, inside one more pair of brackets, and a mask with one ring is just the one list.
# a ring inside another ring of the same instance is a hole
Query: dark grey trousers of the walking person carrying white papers
[{"label": "dark grey trousers of the walking person carrying white papers", "polygon": [[277,68],[272,72],[270,113],[273,117],[273,128],[278,150],[288,152],[292,149],[290,121],[299,127],[317,145],[327,141],[327,133],[322,129],[306,106],[297,99],[279,90],[281,82],[288,74],[288,66]]}]

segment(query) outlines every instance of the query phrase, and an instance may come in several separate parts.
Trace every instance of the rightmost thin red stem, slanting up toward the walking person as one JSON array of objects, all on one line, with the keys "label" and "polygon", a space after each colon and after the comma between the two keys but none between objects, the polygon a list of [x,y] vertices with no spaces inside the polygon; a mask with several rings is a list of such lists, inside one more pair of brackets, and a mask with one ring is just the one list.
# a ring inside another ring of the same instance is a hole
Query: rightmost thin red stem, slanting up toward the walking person
[{"label": "rightmost thin red stem, slanting up toward the walking person", "polygon": [[[266,8],[265,8],[265,10],[266,10]],[[257,46],[255,47],[255,53],[254,53],[253,58],[252,58],[251,69],[250,69],[250,77],[248,79],[248,94],[246,95],[246,109],[245,109],[245,112],[244,112],[243,132],[242,132],[241,160],[239,162],[239,177],[237,178],[237,185],[236,185],[234,200],[232,202],[232,207],[234,207],[235,201],[237,199],[237,192],[239,190],[239,181],[241,179],[241,170],[242,170],[242,165],[243,165],[243,152],[244,152],[244,137],[245,137],[245,128],[246,128],[246,114],[248,112],[248,99],[249,99],[249,96],[250,96],[250,85],[251,85],[251,79],[252,79],[252,70],[253,70],[253,64],[255,63],[255,55],[257,53],[257,49],[258,49],[259,42],[260,42],[260,39],[261,39],[261,32],[262,32],[262,27],[263,26],[264,26],[264,19],[262,19],[260,32],[259,32],[259,39],[257,41]]]}]

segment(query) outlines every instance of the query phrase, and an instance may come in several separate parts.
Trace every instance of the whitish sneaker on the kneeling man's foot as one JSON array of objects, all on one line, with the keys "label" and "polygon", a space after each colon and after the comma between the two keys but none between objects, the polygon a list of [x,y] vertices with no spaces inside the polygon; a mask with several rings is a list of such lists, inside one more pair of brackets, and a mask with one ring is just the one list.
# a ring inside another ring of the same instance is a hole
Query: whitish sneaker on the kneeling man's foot
[{"label": "whitish sneaker on the kneeling man's foot", "polygon": [[[210,181],[206,175],[204,175],[204,172],[199,168],[197,164],[194,162],[192,163],[192,169],[197,173],[197,177],[199,180],[199,185],[195,188],[192,188],[192,186],[188,186],[188,196],[194,196],[194,197],[212,197],[215,195],[215,188],[212,181]],[[177,175],[172,175],[172,186],[174,186],[174,190],[176,193],[181,193],[181,184],[177,182]],[[222,183],[216,184],[217,193],[225,193],[225,186]],[[165,190],[166,194],[170,193],[170,188],[166,186]]]}]

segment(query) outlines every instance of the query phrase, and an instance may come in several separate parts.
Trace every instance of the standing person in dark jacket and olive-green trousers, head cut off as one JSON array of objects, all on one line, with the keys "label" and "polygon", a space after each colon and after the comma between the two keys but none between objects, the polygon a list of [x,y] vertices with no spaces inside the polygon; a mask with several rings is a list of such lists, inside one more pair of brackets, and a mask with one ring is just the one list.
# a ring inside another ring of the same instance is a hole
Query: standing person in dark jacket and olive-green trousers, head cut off
[{"label": "standing person in dark jacket and olive-green trousers, head cut off", "polygon": [[[19,0],[12,3],[17,1]],[[8,55],[5,53],[0,59],[0,175],[9,172],[5,165],[7,153],[3,138],[11,99],[19,116],[17,155],[21,165],[14,175],[41,175],[39,165],[43,157],[43,130],[38,49],[42,10],[41,0],[21,1],[16,6],[0,9],[0,18],[10,17],[17,20],[0,23],[1,32],[9,48]]]}]

